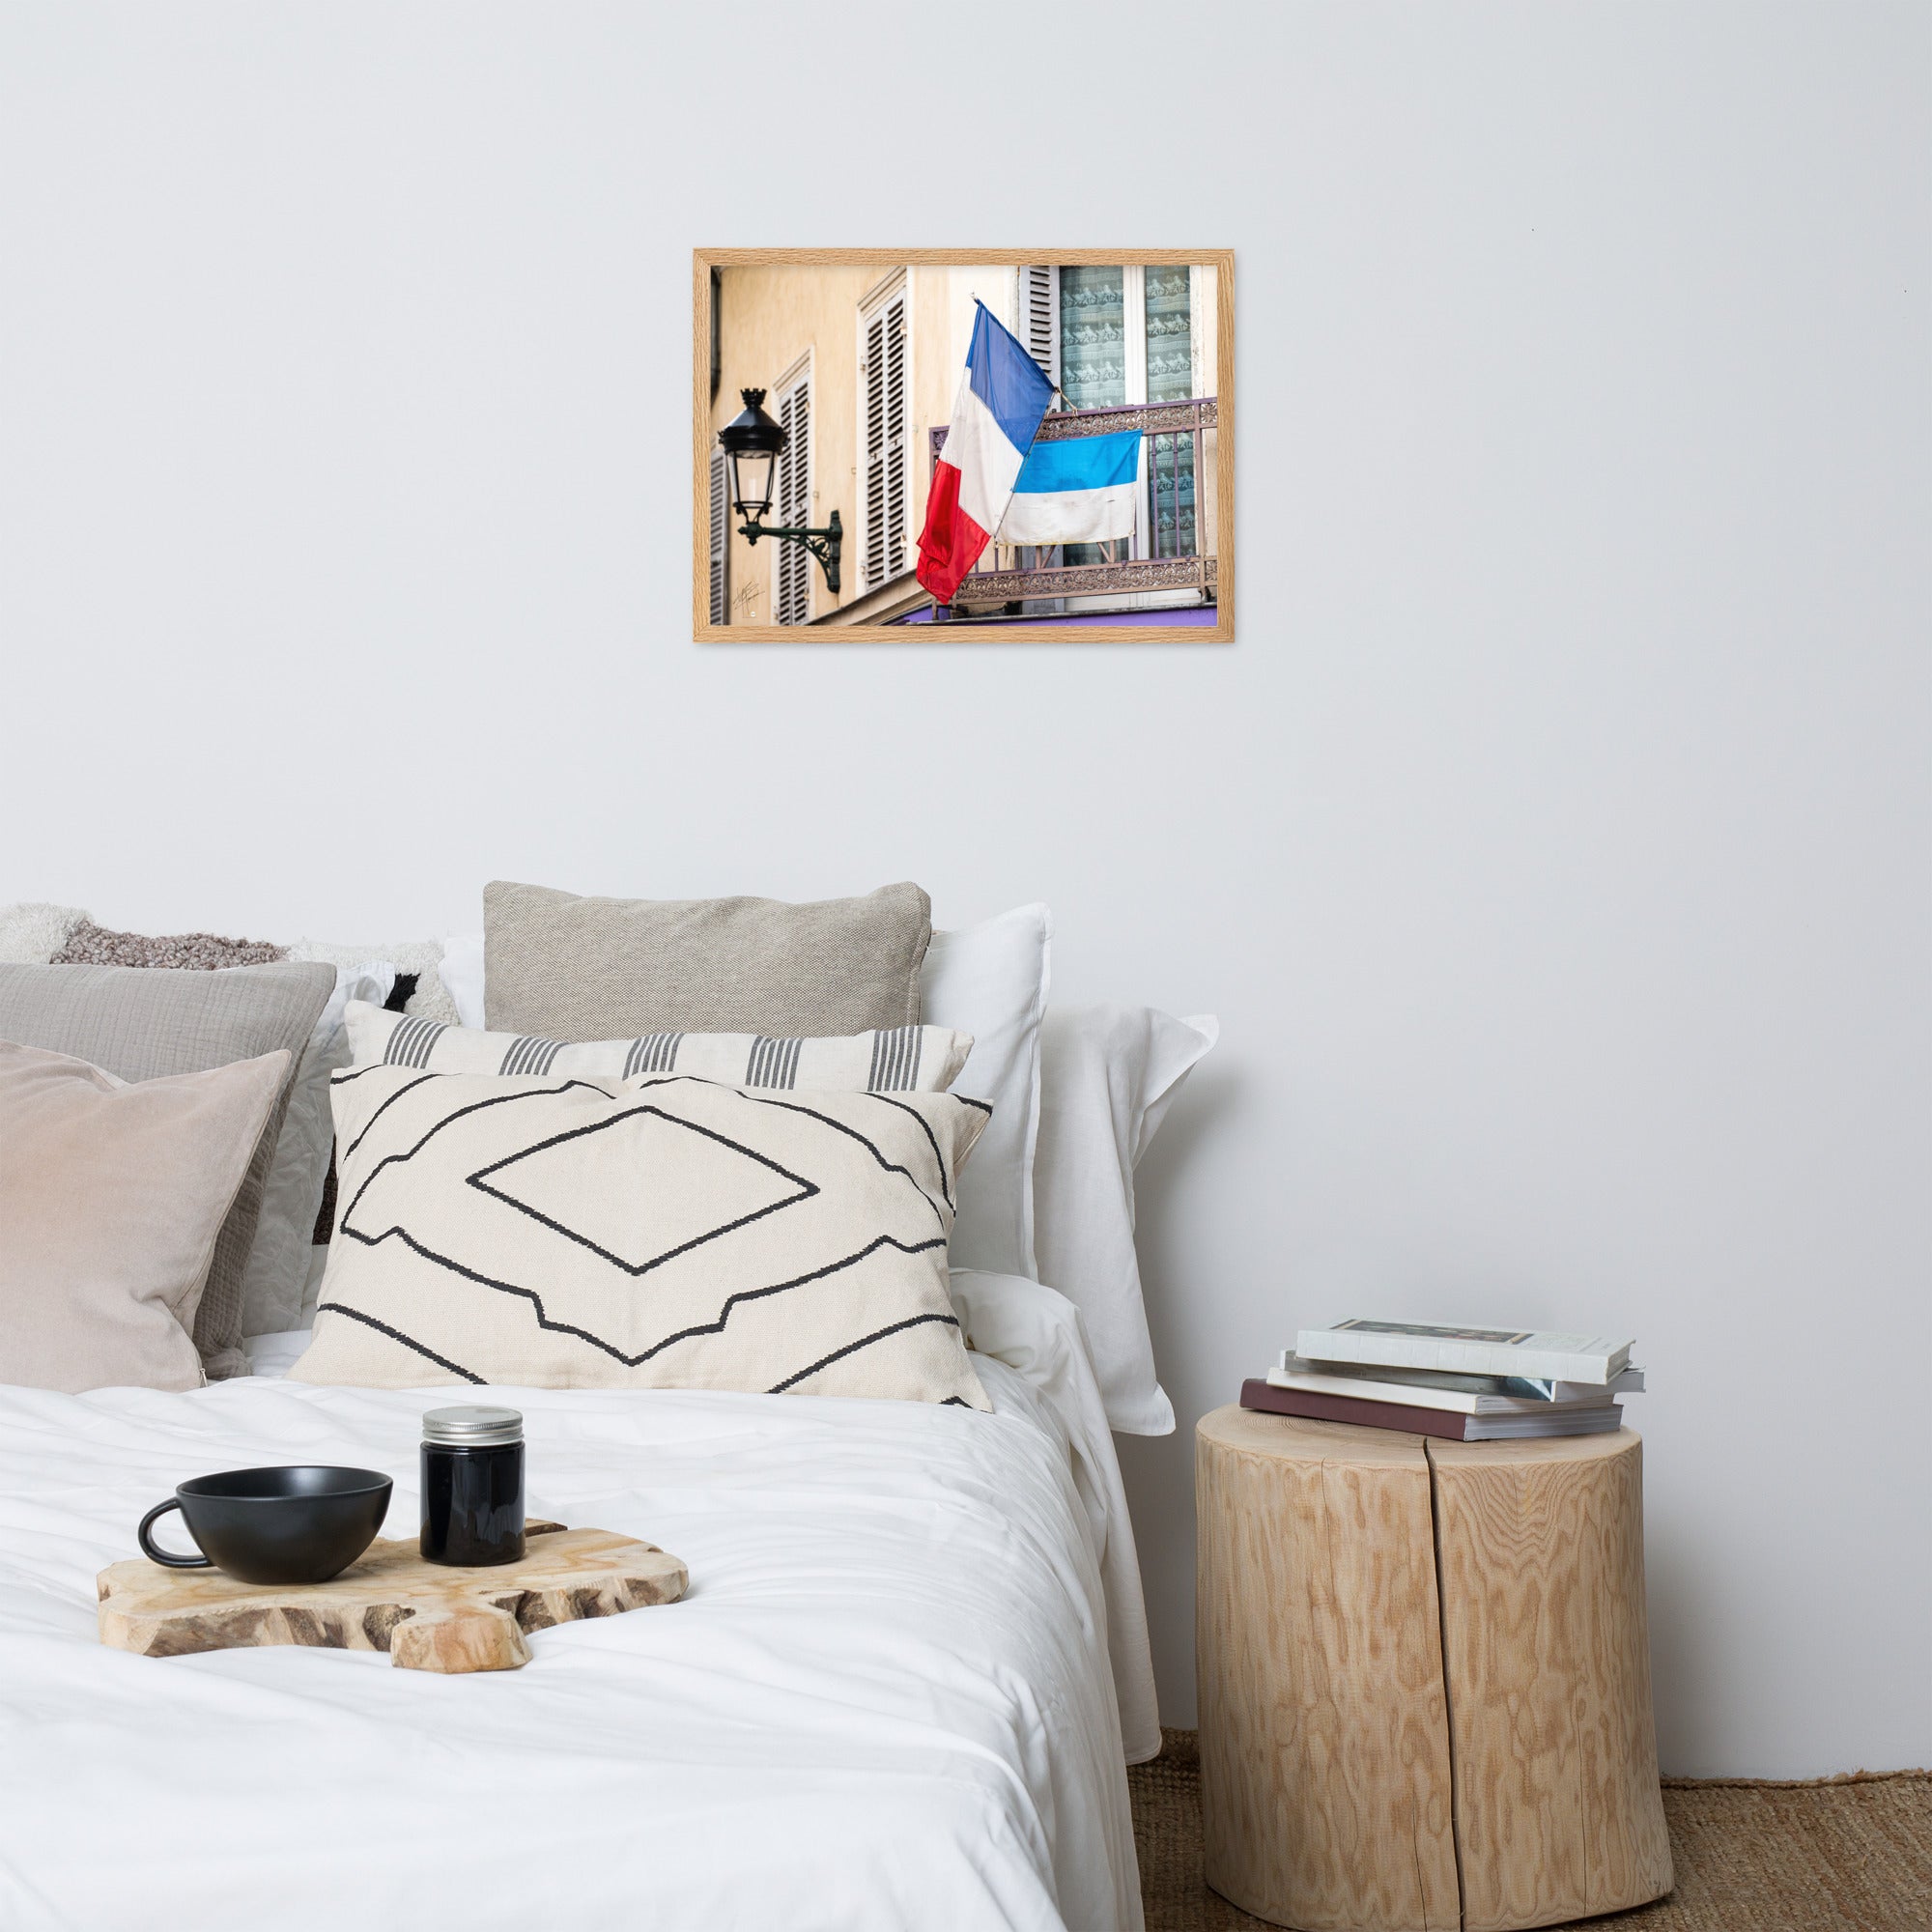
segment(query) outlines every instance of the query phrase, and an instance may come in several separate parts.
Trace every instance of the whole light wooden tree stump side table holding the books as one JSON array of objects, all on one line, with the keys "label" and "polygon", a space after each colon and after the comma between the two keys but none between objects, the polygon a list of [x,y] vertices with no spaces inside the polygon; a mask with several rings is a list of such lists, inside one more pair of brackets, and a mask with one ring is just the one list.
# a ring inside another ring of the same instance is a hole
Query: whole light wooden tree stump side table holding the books
[{"label": "whole light wooden tree stump side table holding the books", "polygon": [[1300,1932],[1517,1932],[1671,1888],[1634,1432],[1196,1432],[1208,1882]]}]

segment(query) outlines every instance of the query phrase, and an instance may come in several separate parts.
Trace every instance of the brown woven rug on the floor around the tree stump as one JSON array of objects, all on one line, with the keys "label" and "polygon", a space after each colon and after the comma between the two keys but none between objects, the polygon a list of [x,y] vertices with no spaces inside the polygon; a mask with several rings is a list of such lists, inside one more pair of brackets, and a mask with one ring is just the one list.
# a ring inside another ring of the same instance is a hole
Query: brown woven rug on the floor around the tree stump
[{"label": "brown woven rug on the floor around the tree stump", "polygon": [[[1148,1932],[1265,1928],[1202,1878],[1200,1750],[1163,1731],[1126,1774]],[[1590,1932],[1924,1932],[1932,1926],[1932,1772],[1779,1785],[1663,1785],[1677,1889],[1578,1920]]]}]

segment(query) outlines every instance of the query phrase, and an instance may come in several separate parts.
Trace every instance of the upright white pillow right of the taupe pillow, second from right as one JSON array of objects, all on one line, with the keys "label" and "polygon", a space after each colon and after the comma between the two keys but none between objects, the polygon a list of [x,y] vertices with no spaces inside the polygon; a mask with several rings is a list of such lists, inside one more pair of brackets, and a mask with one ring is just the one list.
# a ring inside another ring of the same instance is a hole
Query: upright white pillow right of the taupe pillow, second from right
[{"label": "upright white pillow right of the taupe pillow, second from right", "polygon": [[1034,1144],[1039,1136],[1039,1022],[1047,1010],[1053,916],[1014,906],[958,933],[933,933],[920,972],[920,1018],[972,1034],[954,1094],[991,1101],[993,1119],[960,1175],[952,1265],[1039,1279],[1034,1260]]}]

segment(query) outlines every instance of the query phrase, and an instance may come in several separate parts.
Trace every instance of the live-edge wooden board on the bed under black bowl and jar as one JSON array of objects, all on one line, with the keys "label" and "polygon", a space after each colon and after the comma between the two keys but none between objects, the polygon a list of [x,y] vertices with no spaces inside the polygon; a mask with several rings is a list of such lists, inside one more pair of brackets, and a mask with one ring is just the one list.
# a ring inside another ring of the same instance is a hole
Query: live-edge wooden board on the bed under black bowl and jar
[{"label": "live-edge wooden board on the bed under black bowl and jar", "polygon": [[529,1631],[674,1604],[690,1580],[653,1544],[609,1530],[529,1524],[520,1563],[448,1569],[415,1540],[379,1538],[328,1582],[247,1584],[220,1571],[170,1571],[147,1557],[99,1577],[100,1642],[143,1658],[247,1644],[386,1650],[410,1671],[514,1671]]}]

